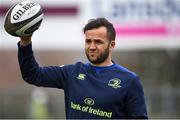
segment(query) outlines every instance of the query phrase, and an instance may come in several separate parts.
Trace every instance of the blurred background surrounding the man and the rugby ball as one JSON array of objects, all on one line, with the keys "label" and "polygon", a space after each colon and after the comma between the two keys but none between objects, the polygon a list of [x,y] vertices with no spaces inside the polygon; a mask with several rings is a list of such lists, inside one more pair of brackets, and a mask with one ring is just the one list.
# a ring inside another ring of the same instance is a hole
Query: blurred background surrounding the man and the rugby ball
[{"label": "blurred background surrounding the man and the rugby ball", "polygon": [[[35,0],[44,11],[33,35],[40,65],[88,62],[82,28],[106,17],[116,28],[113,59],[141,78],[149,118],[180,118],[180,0]],[[19,38],[3,28],[19,0],[0,0],[0,119],[65,118],[62,90],[25,83],[17,61]]]}]

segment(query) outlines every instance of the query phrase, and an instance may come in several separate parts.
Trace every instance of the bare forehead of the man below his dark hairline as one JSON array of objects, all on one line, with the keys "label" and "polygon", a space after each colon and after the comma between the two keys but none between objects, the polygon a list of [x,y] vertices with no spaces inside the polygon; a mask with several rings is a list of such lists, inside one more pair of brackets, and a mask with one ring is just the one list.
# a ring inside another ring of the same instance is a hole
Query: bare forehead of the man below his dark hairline
[{"label": "bare forehead of the man below his dark hairline", "polygon": [[106,27],[99,27],[99,28],[94,28],[91,30],[87,30],[85,32],[86,38],[107,38],[107,29]]}]

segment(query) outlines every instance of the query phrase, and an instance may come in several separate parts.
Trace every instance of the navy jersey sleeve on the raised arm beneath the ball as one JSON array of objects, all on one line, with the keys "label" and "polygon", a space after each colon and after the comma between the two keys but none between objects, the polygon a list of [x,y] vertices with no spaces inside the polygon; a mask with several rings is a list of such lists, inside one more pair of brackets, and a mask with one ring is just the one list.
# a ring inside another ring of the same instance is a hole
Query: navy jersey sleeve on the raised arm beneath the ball
[{"label": "navy jersey sleeve on the raised arm beneath the ball", "polygon": [[33,85],[65,89],[66,69],[60,66],[40,67],[32,51],[32,44],[18,43],[18,61],[22,78]]}]

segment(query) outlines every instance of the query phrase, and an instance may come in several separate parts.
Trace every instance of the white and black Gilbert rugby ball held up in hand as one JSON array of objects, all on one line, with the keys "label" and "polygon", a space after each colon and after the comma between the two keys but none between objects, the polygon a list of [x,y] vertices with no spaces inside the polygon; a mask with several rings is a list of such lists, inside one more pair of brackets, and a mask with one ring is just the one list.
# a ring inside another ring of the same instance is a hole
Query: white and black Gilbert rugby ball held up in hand
[{"label": "white and black Gilbert rugby ball held up in hand", "polygon": [[5,15],[4,28],[12,36],[31,36],[43,20],[40,4],[29,0],[12,6]]}]

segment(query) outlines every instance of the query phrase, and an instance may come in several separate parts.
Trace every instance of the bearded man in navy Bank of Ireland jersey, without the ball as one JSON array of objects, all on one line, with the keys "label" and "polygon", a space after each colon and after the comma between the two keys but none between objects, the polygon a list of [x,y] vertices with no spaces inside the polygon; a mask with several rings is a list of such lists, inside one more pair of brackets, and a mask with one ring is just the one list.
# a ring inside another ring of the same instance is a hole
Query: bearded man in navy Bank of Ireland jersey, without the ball
[{"label": "bearded man in navy Bank of Ireland jersey, without the ball", "polygon": [[18,43],[23,79],[36,86],[63,89],[66,118],[147,119],[143,88],[138,76],[112,61],[115,30],[105,18],[84,27],[85,53],[90,63],[40,67],[31,37]]}]

